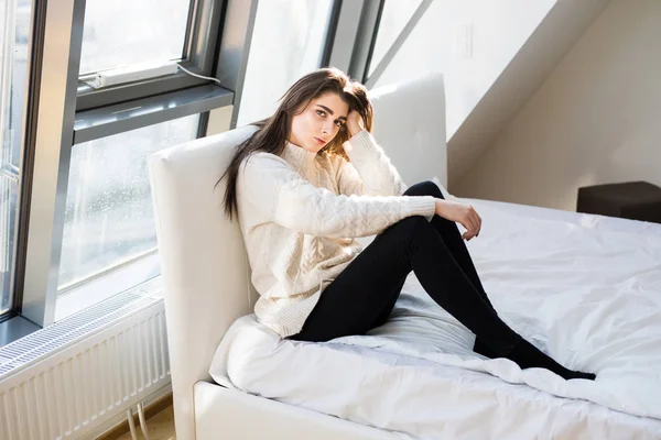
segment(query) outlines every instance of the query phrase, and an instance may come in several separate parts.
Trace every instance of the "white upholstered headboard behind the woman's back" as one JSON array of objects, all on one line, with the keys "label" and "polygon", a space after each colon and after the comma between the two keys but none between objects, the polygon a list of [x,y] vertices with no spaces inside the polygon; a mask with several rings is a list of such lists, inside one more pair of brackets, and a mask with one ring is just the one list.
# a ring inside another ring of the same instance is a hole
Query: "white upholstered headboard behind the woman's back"
[{"label": "white upholstered headboard behind the woman's back", "polygon": [[[371,94],[377,142],[408,185],[447,182],[445,92],[442,75],[380,88]],[[246,127],[177,145],[149,161],[165,296],[170,367],[177,438],[194,438],[193,385],[210,381],[208,367],[220,339],[252,312],[243,242],[223,210],[225,180],[214,185]]]}]

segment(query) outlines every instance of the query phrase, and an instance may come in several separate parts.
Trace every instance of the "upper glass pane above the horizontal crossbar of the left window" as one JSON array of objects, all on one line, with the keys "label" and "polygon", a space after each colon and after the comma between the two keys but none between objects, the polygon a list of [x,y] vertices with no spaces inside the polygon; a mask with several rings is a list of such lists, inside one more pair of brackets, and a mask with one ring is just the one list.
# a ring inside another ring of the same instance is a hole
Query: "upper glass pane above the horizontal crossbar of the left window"
[{"label": "upper glass pane above the horizontal crossbar of the left window", "polygon": [[182,59],[191,0],[87,0],[80,75]]}]

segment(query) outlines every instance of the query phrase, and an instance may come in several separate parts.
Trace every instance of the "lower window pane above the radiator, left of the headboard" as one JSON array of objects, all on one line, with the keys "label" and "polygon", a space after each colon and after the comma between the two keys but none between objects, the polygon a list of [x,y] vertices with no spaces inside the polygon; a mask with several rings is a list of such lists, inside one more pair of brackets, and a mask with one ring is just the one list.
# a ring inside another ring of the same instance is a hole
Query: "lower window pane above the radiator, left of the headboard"
[{"label": "lower window pane above the radiator, left of the headboard", "polygon": [[147,157],[197,138],[198,121],[192,116],[74,145],[59,288],[155,251]]}]

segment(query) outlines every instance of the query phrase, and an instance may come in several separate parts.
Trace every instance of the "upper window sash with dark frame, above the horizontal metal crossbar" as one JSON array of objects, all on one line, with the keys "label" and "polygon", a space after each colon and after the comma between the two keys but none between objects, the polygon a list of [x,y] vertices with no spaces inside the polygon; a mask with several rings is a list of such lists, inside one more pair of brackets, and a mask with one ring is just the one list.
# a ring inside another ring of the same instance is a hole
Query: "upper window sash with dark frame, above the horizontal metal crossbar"
[{"label": "upper window sash with dark frame, above the horizontal metal crossbar", "polygon": [[[116,77],[94,84],[96,74],[176,62],[212,76],[220,31],[220,0],[87,0],[83,23],[78,97],[83,111],[202,86],[207,80],[174,67],[143,78]],[[80,19],[78,19],[80,21]]]}]

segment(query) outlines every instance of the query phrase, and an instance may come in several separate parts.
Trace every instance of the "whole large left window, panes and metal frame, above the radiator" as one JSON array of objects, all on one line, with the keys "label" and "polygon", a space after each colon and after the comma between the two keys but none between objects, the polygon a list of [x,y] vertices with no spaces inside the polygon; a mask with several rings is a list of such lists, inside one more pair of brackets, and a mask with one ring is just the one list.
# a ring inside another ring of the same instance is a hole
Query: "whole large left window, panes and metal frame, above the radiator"
[{"label": "whole large left window, panes and metal frame, above the radiator", "polygon": [[[145,160],[232,111],[257,2],[4,0],[0,13],[0,312],[33,331],[158,284],[143,284],[160,275]],[[167,61],[220,79],[82,77]]]}]

